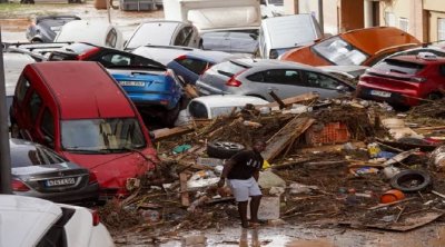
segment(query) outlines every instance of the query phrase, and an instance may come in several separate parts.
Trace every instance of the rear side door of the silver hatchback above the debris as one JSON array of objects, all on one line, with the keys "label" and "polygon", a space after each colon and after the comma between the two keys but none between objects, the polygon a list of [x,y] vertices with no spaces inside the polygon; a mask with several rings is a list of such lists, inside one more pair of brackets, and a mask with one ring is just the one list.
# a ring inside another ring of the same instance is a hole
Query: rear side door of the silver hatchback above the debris
[{"label": "rear side door of the silver hatchback above the debris", "polygon": [[258,95],[268,101],[274,101],[269,95],[274,91],[280,99],[309,92],[309,88],[301,86],[301,72],[296,69],[269,69],[247,77],[253,81],[247,95]]}]

